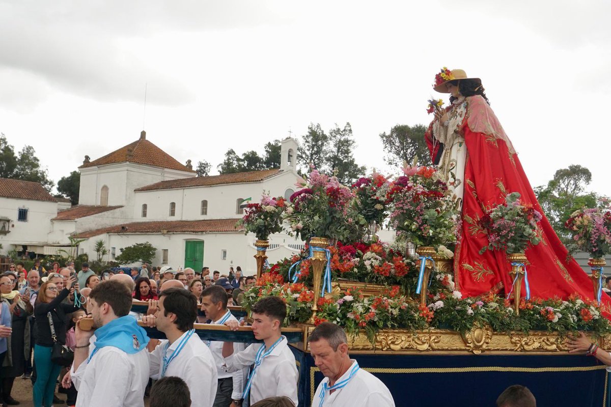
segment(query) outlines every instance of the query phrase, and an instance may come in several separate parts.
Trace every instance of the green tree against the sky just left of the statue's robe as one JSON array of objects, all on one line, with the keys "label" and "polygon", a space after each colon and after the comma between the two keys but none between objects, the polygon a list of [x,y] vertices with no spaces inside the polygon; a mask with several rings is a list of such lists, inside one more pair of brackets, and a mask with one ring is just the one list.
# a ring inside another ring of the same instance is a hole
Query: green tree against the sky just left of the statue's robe
[{"label": "green tree against the sky just left of the statue's robe", "polygon": [[426,127],[422,124],[408,126],[397,124],[389,133],[380,134],[382,146],[386,151],[384,161],[387,164],[400,167],[403,161],[411,164],[418,157],[419,165],[431,165],[431,157],[426,146],[424,134]]}]

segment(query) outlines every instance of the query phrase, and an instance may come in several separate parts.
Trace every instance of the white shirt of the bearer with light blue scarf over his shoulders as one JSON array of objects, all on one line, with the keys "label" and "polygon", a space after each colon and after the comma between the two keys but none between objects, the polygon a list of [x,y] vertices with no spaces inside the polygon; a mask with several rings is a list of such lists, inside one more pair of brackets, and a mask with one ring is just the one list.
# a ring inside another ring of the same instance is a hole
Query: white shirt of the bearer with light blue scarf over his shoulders
[{"label": "white shirt of the bearer with light blue scarf over his shoulders", "polygon": [[[90,349],[93,351],[93,349]],[[129,354],[112,346],[100,348],[76,372],[70,369],[78,391],[77,407],[144,407],[148,383],[148,351]]]}]

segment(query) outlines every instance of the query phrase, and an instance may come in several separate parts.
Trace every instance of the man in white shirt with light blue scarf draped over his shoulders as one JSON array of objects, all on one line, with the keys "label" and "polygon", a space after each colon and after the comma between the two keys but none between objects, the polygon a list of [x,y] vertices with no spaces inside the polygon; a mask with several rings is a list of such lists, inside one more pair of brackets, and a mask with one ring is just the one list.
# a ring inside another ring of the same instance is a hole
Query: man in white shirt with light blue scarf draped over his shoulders
[{"label": "man in white shirt with light blue scarf draped over his shoulders", "polygon": [[128,316],[131,292],[119,281],[102,281],[89,294],[93,331],[76,325],[75,359],[70,370],[77,407],[143,407],[148,383],[146,332]]}]

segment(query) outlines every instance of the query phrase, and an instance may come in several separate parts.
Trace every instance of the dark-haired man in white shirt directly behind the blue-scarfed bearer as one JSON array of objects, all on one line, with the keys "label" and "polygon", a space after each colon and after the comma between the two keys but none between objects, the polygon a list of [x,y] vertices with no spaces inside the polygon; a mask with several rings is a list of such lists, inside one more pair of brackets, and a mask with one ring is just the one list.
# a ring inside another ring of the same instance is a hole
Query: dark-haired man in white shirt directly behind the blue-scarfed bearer
[{"label": "dark-haired man in white shirt directly behind the blue-scarfed bearer", "polygon": [[217,387],[216,366],[210,349],[193,329],[197,298],[182,288],[164,289],[159,295],[155,315],[142,318],[147,326],[156,326],[167,337],[150,353],[150,376],[180,377],[189,386],[191,406],[212,407]]}]

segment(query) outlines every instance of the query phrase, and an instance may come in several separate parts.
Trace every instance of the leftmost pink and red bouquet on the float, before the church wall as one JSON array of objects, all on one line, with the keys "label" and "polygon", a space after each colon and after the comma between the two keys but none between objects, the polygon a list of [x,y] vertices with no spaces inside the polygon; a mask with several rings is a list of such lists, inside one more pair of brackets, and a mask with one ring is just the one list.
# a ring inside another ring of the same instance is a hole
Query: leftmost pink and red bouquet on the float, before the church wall
[{"label": "leftmost pink and red bouquet on the float, before the church wall", "polygon": [[244,216],[236,227],[244,227],[246,233],[253,232],[258,240],[268,240],[269,235],[282,231],[282,213],[287,201],[282,198],[261,196],[261,203],[249,203],[244,209]]}]

